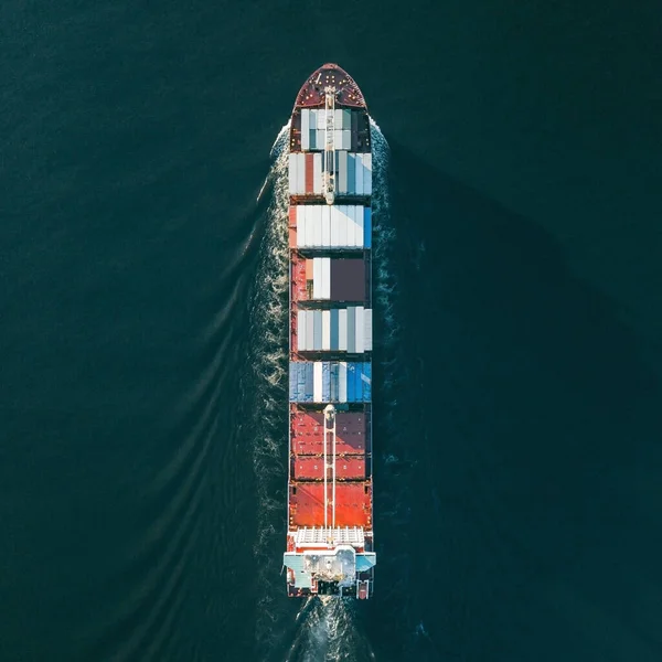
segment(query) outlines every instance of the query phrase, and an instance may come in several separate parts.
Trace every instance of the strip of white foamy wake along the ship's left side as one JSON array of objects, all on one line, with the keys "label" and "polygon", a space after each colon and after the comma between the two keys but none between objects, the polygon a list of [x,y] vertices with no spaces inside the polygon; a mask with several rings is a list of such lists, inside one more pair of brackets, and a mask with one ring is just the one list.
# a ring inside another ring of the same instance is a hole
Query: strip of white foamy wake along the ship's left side
[{"label": "strip of white foamy wake along the ship's left side", "polygon": [[242,385],[250,413],[247,420],[257,485],[253,552],[260,595],[255,623],[260,654],[284,645],[282,621],[287,618],[280,560],[287,508],[288,132],[286,125],[271,148],[273,167],[263,186],[270,186],[271,201],[250,310],[253,371]]}]

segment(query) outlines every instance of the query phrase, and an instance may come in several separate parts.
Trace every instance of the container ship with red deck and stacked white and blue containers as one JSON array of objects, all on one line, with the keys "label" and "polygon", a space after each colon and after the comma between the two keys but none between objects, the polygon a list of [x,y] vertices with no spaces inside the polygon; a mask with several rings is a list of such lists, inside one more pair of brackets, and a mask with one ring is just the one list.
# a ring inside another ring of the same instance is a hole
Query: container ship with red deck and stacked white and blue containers
[{"label": "container ship with red deck and stacked white and blue containers", "polygon": [[372,148],[354,81],[325,64],[289,132],[290,597],[372,596]]}]

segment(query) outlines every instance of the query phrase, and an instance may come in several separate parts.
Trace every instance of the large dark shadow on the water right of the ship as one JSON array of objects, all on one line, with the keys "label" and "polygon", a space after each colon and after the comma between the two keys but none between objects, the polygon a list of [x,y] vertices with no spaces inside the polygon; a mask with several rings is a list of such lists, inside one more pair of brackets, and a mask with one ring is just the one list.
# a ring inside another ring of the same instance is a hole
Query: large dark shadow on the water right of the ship
[{"label": "large dark shadow on the water right of the ship", "polygon": [[401,329],[389,374],[375,367],[361,612],[376,659],[652,660],[631,587],[660,579],[638,488],[660,460],[660,387],[637,339],[534,220],[393,143],[389,192]]}]

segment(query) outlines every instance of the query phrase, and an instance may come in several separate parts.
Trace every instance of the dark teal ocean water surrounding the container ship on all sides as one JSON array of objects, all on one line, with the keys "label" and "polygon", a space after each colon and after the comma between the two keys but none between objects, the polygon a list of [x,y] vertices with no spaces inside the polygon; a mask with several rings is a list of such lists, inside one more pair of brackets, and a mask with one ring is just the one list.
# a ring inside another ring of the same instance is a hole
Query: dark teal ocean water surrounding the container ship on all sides
[{"label": "dark teal ocean water surrounding the container ship on all sides", "polygon": [[[648,0],[4,0],[0,662],[660,662],[661,44]],[[329,61],[378,146],[367,604],[280,575]]]}]

